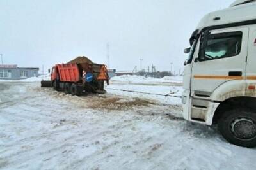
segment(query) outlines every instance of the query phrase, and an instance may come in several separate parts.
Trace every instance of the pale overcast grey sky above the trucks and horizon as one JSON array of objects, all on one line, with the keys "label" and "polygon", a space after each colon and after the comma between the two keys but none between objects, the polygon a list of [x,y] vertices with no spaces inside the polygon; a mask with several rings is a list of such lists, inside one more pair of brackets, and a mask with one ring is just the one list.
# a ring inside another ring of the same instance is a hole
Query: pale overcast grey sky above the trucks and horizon
[{"label": "pale overcast grey sky above the trucks and horizon", "polygon": [[4,64],[42,67],[86,55],[118,70],[183,67],[189,36],[206,13],[234,0],[1,0]]}]

